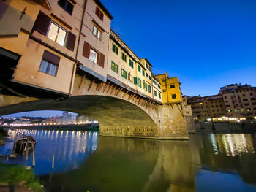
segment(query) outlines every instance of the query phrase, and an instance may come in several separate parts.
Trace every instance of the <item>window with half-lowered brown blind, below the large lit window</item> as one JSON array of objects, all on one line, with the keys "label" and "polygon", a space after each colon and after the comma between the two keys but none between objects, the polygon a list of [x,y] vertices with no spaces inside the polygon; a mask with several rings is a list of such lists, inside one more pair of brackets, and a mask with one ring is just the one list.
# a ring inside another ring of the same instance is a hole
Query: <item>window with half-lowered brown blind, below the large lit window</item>
[{"label": "window with half-lowered brown blind, below the large lit window", "polygon": [[56,76],[59,67],[60,57],[45,50],[39,67],[40,72]]}]

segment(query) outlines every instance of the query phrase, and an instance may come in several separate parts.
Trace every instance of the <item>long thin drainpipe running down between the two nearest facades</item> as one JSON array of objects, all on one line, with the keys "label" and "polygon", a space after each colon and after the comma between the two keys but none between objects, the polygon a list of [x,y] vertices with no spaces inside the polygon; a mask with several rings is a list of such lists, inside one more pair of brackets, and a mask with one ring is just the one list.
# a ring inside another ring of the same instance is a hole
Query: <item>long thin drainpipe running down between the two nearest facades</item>
[{"label": "long thin drainpipe running down between the two nearest facades", "polygon": [[83,4],[83,14],[82,14],[82,18],[81,18],[81,25],[80,25],[80,31],[79,31],[79,35],[78,35],[78,46],[77,46],[77,50],[75,53],[75,60],[77,61],[74,65],[73,65],[73,69],[72,69],[72,77],[71,77],[71,82],[70,82],[70,86],[69,86],[69,97],[71,96],[71,91],[72,91],[72,85],[74,83],[75,80],[75,72],[78,69],[78,66],[80,66],[80,62],[78,61],[78,47],[80,44],[80,37],[81,37],[81,33],[82,33],[82,28],[83,28],[83,18],[84,18],[84,14],[86,12],[86,4],[87,4],[87,0],[84,1]]}]

